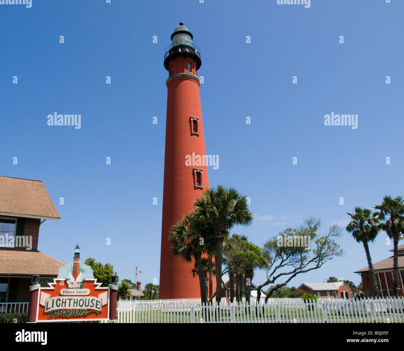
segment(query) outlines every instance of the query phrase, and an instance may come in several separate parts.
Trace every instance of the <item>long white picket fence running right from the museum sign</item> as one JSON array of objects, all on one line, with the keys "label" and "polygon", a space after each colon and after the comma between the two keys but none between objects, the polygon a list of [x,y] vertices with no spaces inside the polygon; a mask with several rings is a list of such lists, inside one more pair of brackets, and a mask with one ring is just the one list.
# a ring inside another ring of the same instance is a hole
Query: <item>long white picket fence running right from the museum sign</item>
[{"label": "long white picket fence running right from the museum sign", "polygon": [[119,301],[118,323],[403,323],[404,297],[379,299],[269,298],[202,305],[200,299]]}]

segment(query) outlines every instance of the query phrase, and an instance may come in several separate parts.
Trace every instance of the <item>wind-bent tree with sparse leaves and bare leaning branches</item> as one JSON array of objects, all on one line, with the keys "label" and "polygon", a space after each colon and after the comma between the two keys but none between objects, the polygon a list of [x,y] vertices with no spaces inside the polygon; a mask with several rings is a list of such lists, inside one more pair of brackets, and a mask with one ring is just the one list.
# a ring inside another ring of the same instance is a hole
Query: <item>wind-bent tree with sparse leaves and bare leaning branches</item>
[{"label": "wind-bent tree with sparse leaves and bare leaning branches", "polygon": [[[267,280],[257,288],[257,301],[259,301],[261,289],[264,286],[275,284],[269,289],[265,298],[265,302],[267,302],[274,291],[288,284],[296,275],[318,269],[332,258],[343,255],[343,250],[337,244],[342,229],[333,224],[330,225],[328,233],[320,236],[317,233],[320,226],[320,219],[309,218],[298,228],[288,228],[284,231],[288,238],[292,238],[292,235],[297,235],[300,238],[305,236],[310,242],[309,250],[305,250],[307,247],[304,246],[281,246],[278,237],[265,242],[263,252],[269,262],[269,268],[267,269]],[[280,233],[280,235],[284,233]],[[285,269],[286,271],[284,271]],[[281,277],[286,280],[276,284]]]}]

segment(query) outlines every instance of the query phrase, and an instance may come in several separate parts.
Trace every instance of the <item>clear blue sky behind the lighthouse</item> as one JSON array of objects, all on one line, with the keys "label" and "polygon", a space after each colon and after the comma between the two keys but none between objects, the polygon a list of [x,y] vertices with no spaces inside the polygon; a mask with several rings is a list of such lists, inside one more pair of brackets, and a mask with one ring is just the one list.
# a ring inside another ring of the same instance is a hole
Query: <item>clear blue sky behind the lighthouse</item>
[{"label": "clear blue sky behind the lighthouse", "polygon": [[[346,255],[289,285],[330,275],[358,284],[353,271],[367,262],[346,212],[404,195],[403,11],[398,0],[0,5],[0,175],[42,180],[55,203],[61,219],[42,224],[40,251],[69,263],[79,244],[82,259],[112,264],[121,280],[135,281],[135,264],[142,286],[159,279],[163,59],[182,20],[202,57],[206,153],[219,155],[210,186],[236,187],[256,215],[232,232],[261,246],[308,216],[322,232],[336,222]],[[81,128],[48,126],[55,112],[81,114]],[[325,126],[331,112],[357,114],[358,128]],[[374,262],[390,254],[385,237],[370,245]],[[253,281],[264,280],[258,271]]]}]

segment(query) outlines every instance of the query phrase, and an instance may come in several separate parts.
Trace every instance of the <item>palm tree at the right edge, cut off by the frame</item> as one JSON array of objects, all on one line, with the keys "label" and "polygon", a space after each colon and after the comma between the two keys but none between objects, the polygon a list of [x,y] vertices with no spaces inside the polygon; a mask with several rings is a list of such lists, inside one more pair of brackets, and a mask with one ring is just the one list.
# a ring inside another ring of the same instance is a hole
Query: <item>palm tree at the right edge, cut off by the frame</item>
[{"label": "palm tree at the right edge, cut off by the frame", "polygon": [[386,231],[387,236],[393,239],[393,292],[394,296],[398,298],[398,240],[400,233],[404,231],[404,204],[401,196],[391,198],[385,196],[381,205],[375,207],[380,210],[377,213],[380,219],[381,229]]}]

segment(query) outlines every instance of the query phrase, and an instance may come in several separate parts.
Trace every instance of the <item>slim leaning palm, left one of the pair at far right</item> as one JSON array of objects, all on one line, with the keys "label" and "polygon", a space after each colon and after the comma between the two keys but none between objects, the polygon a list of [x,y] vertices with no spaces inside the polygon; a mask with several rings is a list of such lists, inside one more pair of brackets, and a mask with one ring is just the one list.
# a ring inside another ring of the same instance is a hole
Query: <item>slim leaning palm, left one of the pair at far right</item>
[{"label": "slim leaning palm, left one of the pair at far right", "polygon": [[352,233],[353,238],[357,242],[362,242],[366,252],[366,259],[368,260],[370,280],[372,281],[372,288],[375,297],[379,297],[379,289],[375,277],[375,270],[373,269],[372,259],[370,257],[368,242],[374,242],[379,232],[379,226],[375,214],[368,208],[355,207],[355,213],[347,213],[352,221],[346,227],[348,233]]}]

